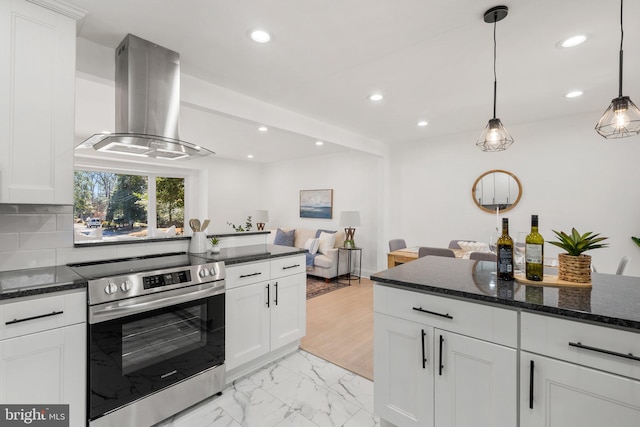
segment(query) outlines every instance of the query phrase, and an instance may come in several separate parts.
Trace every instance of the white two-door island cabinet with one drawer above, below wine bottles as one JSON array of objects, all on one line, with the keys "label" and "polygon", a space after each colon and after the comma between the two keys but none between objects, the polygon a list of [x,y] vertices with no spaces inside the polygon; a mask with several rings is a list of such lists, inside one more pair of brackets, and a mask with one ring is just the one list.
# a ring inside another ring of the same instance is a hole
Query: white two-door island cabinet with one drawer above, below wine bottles
[{"label": "white two-door island cabinet with one drawer above, below wine bottles", "polygon": [[376,285],[376,415],[398,427],[517,425],[517,337],[514,310]]}]

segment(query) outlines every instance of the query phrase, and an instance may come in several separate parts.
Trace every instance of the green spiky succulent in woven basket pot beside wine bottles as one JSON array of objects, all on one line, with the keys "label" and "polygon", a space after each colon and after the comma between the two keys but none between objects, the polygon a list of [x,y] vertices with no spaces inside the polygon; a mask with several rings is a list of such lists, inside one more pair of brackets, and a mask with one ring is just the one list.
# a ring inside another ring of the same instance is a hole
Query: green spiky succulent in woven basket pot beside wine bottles
[{"label": "green spiky succulent in woven basket pot beside wine bottles", "polygon": [[593,234],[591,231],[580,234],[575,228],[571,229],[571,234],[552,231],[559,241],[549,243],[567,251],[558,254],[558,279],[577,283],[591,282],[591,256],[583,252],[606,248],[609,245],[601,242],[608,237],[598,237],[600,234]]}]

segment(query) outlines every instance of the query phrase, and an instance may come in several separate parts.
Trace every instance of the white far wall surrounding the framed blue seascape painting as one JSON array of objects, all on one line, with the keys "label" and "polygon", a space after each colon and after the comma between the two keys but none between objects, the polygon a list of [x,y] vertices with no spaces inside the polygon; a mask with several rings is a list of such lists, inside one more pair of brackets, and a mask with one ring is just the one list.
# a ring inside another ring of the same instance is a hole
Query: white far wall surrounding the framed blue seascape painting
[{"label": "white far wall surrounding the framed blue seascape painting", "polygon": [[[354,240],[362,247],[362,274],[386,267],[379,265],[382,221],[378,206],[383,187],[382,158],[348,152],[265,165],[262,189],[268,195],[268,228],[324,228],[339,230],[340,211],[360,211],[362,225]],[[300,190],[333,189],[333,218],[300,218]]]}]

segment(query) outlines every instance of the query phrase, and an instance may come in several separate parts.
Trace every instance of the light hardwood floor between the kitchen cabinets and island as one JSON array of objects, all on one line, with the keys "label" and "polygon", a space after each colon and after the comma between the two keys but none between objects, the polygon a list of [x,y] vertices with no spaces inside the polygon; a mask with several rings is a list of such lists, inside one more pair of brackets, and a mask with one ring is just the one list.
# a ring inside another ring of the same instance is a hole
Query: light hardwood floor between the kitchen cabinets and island
[{"label": "light hardwood floor between the kitchen cabinets and island", "polygon": [[301,348],[373,380],[373,282],[307,300],[307,336]]}]

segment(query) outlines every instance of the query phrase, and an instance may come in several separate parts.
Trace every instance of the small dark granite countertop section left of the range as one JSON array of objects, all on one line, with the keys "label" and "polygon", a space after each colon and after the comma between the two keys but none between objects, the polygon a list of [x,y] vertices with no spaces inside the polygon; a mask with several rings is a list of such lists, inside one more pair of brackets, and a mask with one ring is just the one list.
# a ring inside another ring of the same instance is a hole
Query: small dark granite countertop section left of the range
[{"label": "small dark granite countertop section left of the range", "polygon": [[66,265],[0,271],[0,300],[86,287],[87,281]]}]

